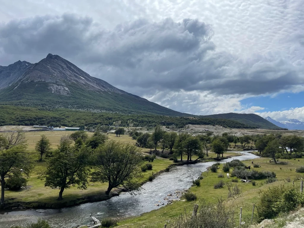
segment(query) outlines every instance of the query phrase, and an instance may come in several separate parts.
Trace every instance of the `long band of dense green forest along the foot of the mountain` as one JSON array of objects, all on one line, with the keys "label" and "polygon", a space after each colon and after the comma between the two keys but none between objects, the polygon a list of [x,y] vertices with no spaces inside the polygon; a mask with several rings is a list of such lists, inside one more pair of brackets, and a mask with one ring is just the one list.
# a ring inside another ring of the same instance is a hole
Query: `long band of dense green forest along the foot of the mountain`
[{"label": "long band of dense green forest along the foot of the mountain", "polygon": [[0,105],[0,126],[5,125],[47,125],[67,127],[94,127],[117,125],[133,127],[176,126],[183,128],[187,124],[220,125],[230,128],[257,128],[235,120],[215,118],[172,117],[160,115],[123,115],[108,112],[87,112],[71,109],[44,109],[24,106]]}]

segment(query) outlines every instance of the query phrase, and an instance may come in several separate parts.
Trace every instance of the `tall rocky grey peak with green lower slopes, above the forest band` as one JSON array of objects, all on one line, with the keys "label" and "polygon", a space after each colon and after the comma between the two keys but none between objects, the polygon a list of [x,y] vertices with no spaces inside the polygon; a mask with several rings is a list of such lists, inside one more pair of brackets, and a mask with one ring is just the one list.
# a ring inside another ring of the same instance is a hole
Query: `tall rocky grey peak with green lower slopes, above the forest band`
[{"label": "tall rocky grey peak with green lower slopes, above the forest band", "polygon": [[0,104],[192,116],[120,90],[52,54],[35,64],[19,60],[0,66]]}]

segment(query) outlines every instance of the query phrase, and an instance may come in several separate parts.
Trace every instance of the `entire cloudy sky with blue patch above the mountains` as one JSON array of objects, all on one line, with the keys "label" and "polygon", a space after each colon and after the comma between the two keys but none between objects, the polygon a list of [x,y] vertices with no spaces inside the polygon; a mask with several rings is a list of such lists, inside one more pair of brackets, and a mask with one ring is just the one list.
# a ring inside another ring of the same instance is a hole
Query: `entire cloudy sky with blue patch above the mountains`
[{"label": "entire cloudy sky with blue patch above the mountains", "polygon": [[303,0],[0,1],[2,66],[58,54],[180,112],[304,121]]}]

